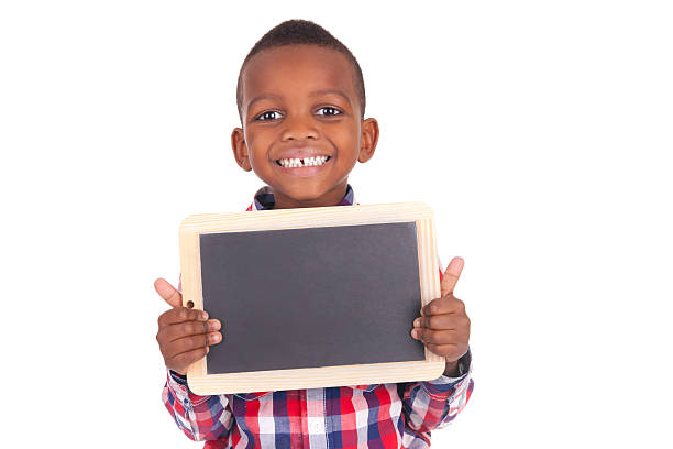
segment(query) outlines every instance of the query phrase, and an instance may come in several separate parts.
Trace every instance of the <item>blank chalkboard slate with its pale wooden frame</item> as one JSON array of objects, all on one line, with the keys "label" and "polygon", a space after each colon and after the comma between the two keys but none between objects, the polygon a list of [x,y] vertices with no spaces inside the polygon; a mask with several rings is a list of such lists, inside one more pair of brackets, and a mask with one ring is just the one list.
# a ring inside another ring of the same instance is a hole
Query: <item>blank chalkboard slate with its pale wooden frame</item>
[{"label": "blank chalkboard slate with its pale wooden frame", "polygon": [[444,369],[410,336],[439,296],[424,204],[191,216],[180,252],[184,302],[218,318],[224,337],[190,366],[195,393],[431,380]]}]

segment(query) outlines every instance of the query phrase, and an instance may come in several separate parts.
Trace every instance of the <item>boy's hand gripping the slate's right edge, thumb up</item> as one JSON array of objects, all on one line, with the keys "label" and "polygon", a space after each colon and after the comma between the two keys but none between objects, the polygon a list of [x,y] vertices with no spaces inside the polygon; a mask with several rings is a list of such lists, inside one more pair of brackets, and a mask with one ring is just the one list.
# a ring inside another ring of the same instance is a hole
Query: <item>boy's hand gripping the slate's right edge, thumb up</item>
[{"label": "boy's hand gripping the slate's right edge, thumb up", "polygon": [[465,313],[465,303],[453,296],[463,265],[462,258],[451,260],[442,276],[442,297],[432,299],[421,308],[421,317],[413,321],[411,331],[411,337],[446,360],[448,372],[467,352],[470,342],[470,318]]}]

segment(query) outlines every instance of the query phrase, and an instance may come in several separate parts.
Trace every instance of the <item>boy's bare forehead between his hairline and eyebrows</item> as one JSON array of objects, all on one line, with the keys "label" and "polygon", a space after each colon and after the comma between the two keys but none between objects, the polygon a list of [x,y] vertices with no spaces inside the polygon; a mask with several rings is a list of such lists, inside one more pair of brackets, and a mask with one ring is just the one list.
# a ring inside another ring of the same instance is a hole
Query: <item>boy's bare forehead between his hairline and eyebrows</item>
[{"label": "boy's bare forehead between his hairline and eyebrows", "polygon": [[247,62],[242,74],[244,109],[260,95],[306,96],[341,90],[351,105],[357,101],[354,68],[344,54],[316,45],[287,45],[264,50]]}]

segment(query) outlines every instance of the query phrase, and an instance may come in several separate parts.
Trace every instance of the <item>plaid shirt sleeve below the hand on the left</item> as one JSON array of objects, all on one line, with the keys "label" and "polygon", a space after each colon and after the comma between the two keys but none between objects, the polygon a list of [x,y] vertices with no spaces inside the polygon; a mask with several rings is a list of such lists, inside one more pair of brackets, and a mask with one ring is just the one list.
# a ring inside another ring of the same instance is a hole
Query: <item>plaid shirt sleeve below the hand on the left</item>
[{"label": "plaid shirt sleeve below the hand on the left", "polygon": [[195,441],[228,438],[234,424],[225,395],[199,396],[187,380],[173,371],[162,394],[164,405],[178,428]]}]

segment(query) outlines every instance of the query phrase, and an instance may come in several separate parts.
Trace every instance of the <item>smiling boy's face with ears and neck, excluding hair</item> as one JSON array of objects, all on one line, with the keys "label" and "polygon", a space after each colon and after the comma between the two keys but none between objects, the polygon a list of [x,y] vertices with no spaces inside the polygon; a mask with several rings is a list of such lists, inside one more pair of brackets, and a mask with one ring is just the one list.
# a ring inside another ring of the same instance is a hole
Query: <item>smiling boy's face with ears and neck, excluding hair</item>
[{"label": "smiling boy's face with ears and neck, excluding hair", "polygon": [[[238,164],[273,188],[275,208],[339,204],[355,163],[374,154],[378,124],[362,120],[354,79],[343,54],[315,45],[265,50],[249,61],[243,129],[234,129],[232,146]],[[309,165],[287,166],[297,158]]]}]

